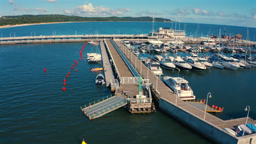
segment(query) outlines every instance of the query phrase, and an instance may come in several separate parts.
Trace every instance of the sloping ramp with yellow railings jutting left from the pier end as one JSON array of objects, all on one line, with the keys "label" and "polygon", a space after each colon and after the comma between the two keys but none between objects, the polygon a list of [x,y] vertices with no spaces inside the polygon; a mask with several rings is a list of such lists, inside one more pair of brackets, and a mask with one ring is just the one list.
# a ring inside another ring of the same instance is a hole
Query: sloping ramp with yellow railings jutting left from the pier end
[{"label": "sloping ramp with yellow railings jutting left from the pier end", "polygon": [[81,106],[80,109],[90,120],[101,117],[108,112],[114,111],[121,106],[126,105],[125,99],[118,95],[110,95],[89,103],[87,105]]}]

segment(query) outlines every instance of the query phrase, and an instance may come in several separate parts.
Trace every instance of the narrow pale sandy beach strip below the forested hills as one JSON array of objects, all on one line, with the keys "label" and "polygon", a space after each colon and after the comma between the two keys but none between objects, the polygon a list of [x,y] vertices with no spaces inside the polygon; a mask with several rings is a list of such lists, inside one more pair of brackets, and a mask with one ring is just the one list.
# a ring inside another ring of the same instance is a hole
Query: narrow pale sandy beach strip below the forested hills
[{"label": "narrow pale sandy beach strip below the forested hills", "polygon": [[[9,27],[20,27],[20,26],[32,26],[32,25],[46,25],[53,23],[74,23],[74,22],[133,22],[133,21],[66,21],[66,22],[42,22],[42,23],[25,23],[20,25],[5,25],[0,26],[0,28],[9,28]],[[147,21],[135,21],[135,22],[147,22]],[[149,22],[149,21],[148,21]]]}]

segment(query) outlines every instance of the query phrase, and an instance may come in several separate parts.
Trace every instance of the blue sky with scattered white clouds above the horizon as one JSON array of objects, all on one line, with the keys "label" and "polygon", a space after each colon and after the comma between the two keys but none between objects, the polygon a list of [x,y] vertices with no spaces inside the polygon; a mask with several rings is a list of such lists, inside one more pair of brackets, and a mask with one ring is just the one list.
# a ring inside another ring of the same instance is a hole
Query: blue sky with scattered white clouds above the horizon
[{"label": "blue sky with scattered white clouds above the horizon", "polygon": [[0,0],[0,15],[150,16],[172,21],[256,27],[255,0]]}]

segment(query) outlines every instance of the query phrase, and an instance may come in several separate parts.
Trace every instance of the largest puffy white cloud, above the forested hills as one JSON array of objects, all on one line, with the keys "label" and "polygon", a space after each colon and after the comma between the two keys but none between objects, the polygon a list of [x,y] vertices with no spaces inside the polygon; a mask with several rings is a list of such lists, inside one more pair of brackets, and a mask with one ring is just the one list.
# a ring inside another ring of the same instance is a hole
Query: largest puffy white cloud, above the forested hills
[{"label": "largest puffy white cloud, above the forested hills", "polygon": [[103,7],[94,7],[91,3],[79,5],[77,8],[71,10],[63,10],[65,14],[75,14],[75,15],[89,15],[89,16],[107,16],[107,15],[123,15],[131,11],[127,8],[122,9],[110,9]]}]

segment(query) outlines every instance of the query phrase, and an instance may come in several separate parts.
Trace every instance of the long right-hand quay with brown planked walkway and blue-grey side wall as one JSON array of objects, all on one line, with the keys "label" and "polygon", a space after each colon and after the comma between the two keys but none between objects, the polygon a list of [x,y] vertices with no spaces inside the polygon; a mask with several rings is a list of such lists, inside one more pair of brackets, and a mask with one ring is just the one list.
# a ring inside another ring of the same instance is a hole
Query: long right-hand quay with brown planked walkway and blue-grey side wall
[{"label": "long right-hand quay with brown planked walkway and blue-grey side wall", "polygon": [[[256,143],[256,134],[236,137],[230,135],[223,128],[234,128],[235,125],[245,124],[246,118],[231,119],[224,121],[216,116],[206,113],[206,118],[203,119],[205,111],[186,103],[181,99],[177,99],[176,94],[168,88],[159,77],[155,76],[152,71],[148,71],[147,67],[131,53],[120,40],[114,40],[123,51],[125,56],[136,70],[141,73],[144,79],[149,79],[149,83],[153,84],[152,90],[155,92],[156,99],[159,101],[159,108],[165,111],[168,115],[173,116],[190,128],[198,131],[202,135],[218,143]],[[256,124],[252,118],[248,119],[247,123]]]}]

